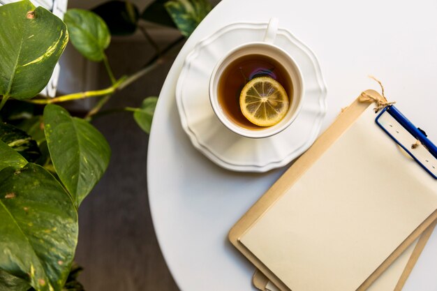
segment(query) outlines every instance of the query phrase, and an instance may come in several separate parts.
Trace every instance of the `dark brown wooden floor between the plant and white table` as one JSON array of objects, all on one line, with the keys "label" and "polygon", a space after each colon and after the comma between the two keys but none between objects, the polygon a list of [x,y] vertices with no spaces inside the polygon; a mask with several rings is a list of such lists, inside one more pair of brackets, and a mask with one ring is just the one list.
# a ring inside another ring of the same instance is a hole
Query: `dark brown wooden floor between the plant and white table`
[{"label": "dark brown wooden floor between the plant and white table", "polygon": [[[146,43],[114,43],[108,58],[119,77],[132,73],[150,57]],[[158,96],[173,59],[151,75],[113,96],[108,107],[138,107]],[[108,84],[103,68],[101,86]],[[108,171],[80,208],[76,261],[84,267],[79,281],[88,291],[177,291],[156,241],[147,200],[148,136],[131,113],[94,121],[108,139]]]}]

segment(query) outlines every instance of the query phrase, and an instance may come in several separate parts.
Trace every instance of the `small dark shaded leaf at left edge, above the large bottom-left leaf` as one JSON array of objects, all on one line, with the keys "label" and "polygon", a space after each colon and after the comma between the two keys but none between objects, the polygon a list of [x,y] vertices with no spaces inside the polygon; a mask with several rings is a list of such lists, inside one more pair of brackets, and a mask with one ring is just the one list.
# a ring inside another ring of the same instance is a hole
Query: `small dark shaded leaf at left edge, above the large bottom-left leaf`
[{"label": "small dark shaded leaf at left edge, above the large bottom-left leaf", "polygon": [[30,135],[10,124],[0,122],[0,140],[29,162],[36,161],[41,154],[36,141]]}]

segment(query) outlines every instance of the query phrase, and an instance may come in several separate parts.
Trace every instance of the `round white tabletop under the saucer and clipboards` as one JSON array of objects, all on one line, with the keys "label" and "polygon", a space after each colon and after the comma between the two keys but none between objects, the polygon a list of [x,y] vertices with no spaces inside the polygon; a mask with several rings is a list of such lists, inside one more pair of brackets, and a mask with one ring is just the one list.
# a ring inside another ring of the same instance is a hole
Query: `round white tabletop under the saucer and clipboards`
[{"label": "round white tabletop under the saucer and clipboards", "polygon": [[[161,91],[149,141],[151,214],[166,262],[182,291],[254,290],[253,267],[228,242],[232,225],[283,170],[223,170],[196,151],[182,130],[175,87],[199,40],[233,22],[278,17],[309,45],[327,83],[325,130],[364,89],[385,85],[390,100],[437,142],[437,1],[223,0],[194,31]],[[404,290],[436,291],[437,231]]]}]

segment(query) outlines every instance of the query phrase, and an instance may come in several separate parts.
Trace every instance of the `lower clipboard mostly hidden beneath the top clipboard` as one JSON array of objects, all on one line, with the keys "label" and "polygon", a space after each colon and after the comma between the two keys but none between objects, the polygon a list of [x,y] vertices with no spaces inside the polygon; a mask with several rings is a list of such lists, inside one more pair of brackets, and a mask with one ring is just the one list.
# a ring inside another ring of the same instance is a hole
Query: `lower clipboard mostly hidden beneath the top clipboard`
[{"label": "lower clipboard mostly hidden beneath the top clipboard", "polygon": [[[411,244],[406,251],[402,253],[390,267],[372,283],[369,291],[401,291],[405,285],[408,276],[415,263],[420,257],[424,246],[427,244],[429,237],[436,227],[437,221],[434,221],[420,237]],[[392,269],[392,270],[391,270]],[[390,272],[387,271],[391,270]],[[260,270],[255,270],[252,277],[252,283],[258,290],[261,291],[279,291],[279,289],[269,281],[269,279],[261,273]]]}]

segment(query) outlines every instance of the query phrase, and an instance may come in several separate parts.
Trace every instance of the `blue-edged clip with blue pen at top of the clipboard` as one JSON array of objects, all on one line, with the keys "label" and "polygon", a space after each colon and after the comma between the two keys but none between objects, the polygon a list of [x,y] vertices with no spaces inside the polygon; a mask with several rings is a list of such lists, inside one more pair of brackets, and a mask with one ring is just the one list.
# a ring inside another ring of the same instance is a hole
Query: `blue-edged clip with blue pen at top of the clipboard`
[{"label": "blue-edged clip with blue pen at top of the clipboard", "polygon": [[437,179],[437,147],[422,129],[416,128],[393,105],[385,107],[375,122],[424,170]]}]

